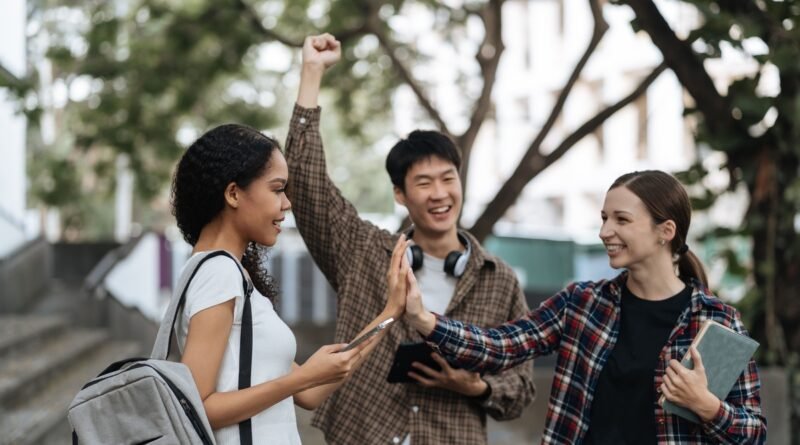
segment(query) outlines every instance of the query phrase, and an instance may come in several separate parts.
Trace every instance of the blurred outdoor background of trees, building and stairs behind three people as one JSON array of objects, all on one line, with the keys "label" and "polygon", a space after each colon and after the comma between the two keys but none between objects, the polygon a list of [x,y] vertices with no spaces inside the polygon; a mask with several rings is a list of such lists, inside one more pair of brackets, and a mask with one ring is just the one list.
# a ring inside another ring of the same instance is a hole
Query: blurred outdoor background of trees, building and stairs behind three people
[{"label": "blurred outdoor background of trees, building and stairs behind three people", "polygon": [[[309,34],[342,41],[324,80],[334,182],[397,230],[383,169],[415,128],[464,155],[461,225],[529,304],[614,274],[599,243],[620,174],[674,173],[712,289],[761,342],[769,443],[800,443],[798,0],[3,0],[0,443],[68,443],[65,407],[116,357],[149,352],[191,247],[172,170],[210,127],[282,140]],[[333,338],[335,295],[289,229],[267,267],[298,359]],[[490,422],[536,443],[538,397]],[[305,443],[322,442],[298,409]]]}]

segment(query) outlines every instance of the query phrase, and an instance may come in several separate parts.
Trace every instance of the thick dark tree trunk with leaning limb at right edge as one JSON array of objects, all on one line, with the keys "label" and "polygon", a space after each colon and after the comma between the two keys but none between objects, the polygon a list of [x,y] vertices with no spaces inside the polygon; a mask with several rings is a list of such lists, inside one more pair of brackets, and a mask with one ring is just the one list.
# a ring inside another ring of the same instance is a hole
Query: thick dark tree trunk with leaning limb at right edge
[{"label": "thick dark tree trunk with leaning limb at right edge", "polygon": [[[723,40],[730,39],[725,35],[727,29],[738,24],[747,26],[753,37],[769,46],[770,54],[757,60],[762,64],[769,61],[780,69],[780,93],[765,98],[755,90],[757,78],[738,79],[726,95],[720,94],[702,58],[692,50],[691,38],[679,39],[652,0],[625,3],[633,8],[637,25],[650,35],[694,99],[702,118],[698,142],[726,153],[731,190],[740,182],[747,187],[750,204],[739,234],[752,237],[753,297],[759,311],[751,323],[752,334],[766,345],[768,362],[786,364],[791,351],[800,351],[800,237],[795,227],[798,198],[792,196],[800,186],[800,110],[795,105],[800,100],[800,71],[796,67],[800,49],[796,35],[784,26],[784,20],[791,19],[786,14],[795,14],[797,5],[721,2],[721,14],[706,15],[708,21],[728,21],[724,23],[727,27],[717,28]],[[761,135],[754,134],[753,126],[770,107],[778,112],[774,125]]]}]

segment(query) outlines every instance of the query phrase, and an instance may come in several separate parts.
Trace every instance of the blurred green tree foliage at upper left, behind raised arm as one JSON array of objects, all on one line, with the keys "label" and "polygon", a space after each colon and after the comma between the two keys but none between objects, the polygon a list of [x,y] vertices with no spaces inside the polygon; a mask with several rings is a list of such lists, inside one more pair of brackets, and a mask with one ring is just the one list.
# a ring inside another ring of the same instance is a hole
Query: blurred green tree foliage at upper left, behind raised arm
[{"label": "blurred green tree foliage at upper left, behind raised arm", "polygon": [[[383,7],[396,11],[403,3]],[[78,201],[106,199],[101,195],[113,189],[119,154],[130,159],[136,205],[146,208],[168,186],[187,138],[231,121],[283,134],[296,94],[299,48],[277,43],[274,36],[293,45],[322,31],[351,36],[344,60],[325,80],[333,87],[327,103],[336,109],[327,116],[339,117],[339,127],[327,130],[326,138],[350,147],[337,157],[340,165],[370,152],[388,133],[391,94],[399,80],[385,53],[374,42],[363,43],[375,38],[358,31],[368,2],[34,0],[29,6],[37,32],[51,42],[34,45],[31,58],[47,58],[53,84],[69,96],[55,111],[58,140],[45,144],[31,137],[39,144],[31,144],[30,193],[34,202],[72,215],[75,224],[64,221],[68,228],[88,227],[91,213],[83,212],[98,209]],[[276,63],[271,54],[290,55],[292,63]],[[32,73],[28,79],[0,76],[0,87],[14,94],[35,129],[43,99]],[[366,210],[391,208],[391,201],[377,202],[377,196],[391,194],[376,194],[368,185],[382,159],[361,157],[372,164],[361,164],[364,179],[351,175],[355,185],[345,192]]]}]

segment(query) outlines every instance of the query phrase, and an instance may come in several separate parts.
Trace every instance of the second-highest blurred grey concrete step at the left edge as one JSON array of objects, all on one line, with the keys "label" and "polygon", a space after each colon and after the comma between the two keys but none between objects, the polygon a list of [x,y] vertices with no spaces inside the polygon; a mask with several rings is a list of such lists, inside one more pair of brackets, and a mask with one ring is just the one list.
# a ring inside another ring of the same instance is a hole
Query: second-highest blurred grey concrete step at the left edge
[{"label": "second-highest blurred grey concrete step at the left edge", "polygon": [[39,348],[3,360],[0,362],[0,406],[39,391],[107,338],[103,330],[68,329]]}]

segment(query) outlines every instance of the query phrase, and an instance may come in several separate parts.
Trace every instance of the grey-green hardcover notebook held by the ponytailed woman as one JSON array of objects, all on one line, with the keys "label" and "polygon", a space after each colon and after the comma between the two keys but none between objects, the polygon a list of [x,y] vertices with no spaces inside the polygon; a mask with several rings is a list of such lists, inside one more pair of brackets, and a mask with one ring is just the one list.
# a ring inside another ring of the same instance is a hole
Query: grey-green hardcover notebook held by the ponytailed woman
[{"label": "grey-green hardcover notebook held by the ponytailed woman", "polygon": [[[725,400],[733,388],[733,384],[742,375],[753,353],[758,349],[758,342],[725,327],[713,320],[706,320],[700,332],[692,341],[703,359],[708,378],[708,389],[720,400]],[[689,369],[694,368],[689,351],[683,356],[681,364]],[[700,418],[689,409],[666,400],[661,396],[664,411],[700,423]]]}]

